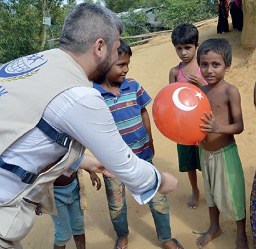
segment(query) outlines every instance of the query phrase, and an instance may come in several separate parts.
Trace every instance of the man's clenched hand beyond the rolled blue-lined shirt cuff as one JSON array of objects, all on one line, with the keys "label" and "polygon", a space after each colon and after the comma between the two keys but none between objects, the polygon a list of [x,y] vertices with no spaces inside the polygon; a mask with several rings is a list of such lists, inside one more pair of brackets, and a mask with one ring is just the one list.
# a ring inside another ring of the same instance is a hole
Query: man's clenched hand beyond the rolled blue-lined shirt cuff
[{"label": "man's clenched hand beyond the rolled blue-lined shirt cuff", "polygon": [[177,188],[179,180],[176,177],[167,172],[161,173],[161,177],[162,180],[158,189],[160,194],[167,195]]}]

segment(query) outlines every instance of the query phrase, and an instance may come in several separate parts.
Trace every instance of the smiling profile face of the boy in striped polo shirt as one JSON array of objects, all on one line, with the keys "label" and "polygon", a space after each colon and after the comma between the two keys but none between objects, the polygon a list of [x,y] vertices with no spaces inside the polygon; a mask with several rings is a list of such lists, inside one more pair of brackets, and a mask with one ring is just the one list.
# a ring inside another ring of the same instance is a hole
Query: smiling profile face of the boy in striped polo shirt
[{"label": "smiling profile face of the boy in striped polo shirt", "polygon": [[108,81],[122,83],[129,71],[130,55],[122,53],[119,55],[117,62],[111,67],[106,78]]}]

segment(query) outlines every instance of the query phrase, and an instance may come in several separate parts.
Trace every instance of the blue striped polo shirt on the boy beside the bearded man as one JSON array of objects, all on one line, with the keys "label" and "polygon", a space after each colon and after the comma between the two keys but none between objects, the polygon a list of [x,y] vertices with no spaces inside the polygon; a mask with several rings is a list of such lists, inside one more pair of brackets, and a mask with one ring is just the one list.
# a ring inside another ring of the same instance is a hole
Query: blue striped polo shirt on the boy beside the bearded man
[{"label": "blue striped polo shirt on the boy beside the bearded man", "polygon": [[141,118],[141,109],[152,99],[144,88],[134,79],[125,79],[117,95],[107,92],[96,83],[93,83],[93,87],[108,105],[124,142],[141,159],[152,160],[153,152],[149,148],[149,137]]}]

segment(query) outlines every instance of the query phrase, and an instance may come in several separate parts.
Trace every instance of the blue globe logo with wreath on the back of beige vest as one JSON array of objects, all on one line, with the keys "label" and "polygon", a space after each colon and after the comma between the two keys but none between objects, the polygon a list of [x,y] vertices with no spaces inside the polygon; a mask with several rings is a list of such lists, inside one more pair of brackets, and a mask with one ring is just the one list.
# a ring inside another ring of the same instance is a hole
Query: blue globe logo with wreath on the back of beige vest
[{"label": "blue globe logo with wreath on the back of beige vest", "polygon": [[32,54],[4,64],[0,68],[0,81],[10,82],[25,79],[37,73],[40,67],[48,61],[43,57],[44,55]]}]

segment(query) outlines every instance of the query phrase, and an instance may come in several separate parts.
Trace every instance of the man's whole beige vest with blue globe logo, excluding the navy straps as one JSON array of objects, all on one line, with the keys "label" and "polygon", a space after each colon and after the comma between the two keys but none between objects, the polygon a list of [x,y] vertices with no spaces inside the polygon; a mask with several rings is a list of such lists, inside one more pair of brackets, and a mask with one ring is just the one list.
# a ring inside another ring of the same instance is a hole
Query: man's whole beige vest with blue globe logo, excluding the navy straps
[{"label": "man's whole beige vest with blue globe logo, excluding the navy straps", "polygon": [[[75,86],[91,87],[83,69],[65,52],[52,49],[25,56],[0,68],[0,155],[20,136],[34,128],[48,103],[59,93]],[[0,205],[0,247],[22,240],[34,223],[34,206],[55,179],[84,153],[72,140],[68,153],[41,173],[11,200]]]}]

